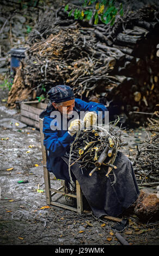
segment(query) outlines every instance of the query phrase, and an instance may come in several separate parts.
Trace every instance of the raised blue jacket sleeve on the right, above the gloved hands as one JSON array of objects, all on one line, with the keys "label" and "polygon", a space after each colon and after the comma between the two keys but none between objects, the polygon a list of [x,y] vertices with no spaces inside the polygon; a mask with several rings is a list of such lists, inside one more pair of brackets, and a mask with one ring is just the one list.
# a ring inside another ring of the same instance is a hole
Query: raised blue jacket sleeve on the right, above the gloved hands
[{"label": "raised blue jacket sleeve on the right, above the gloved hands", "polygon": [[95,111],[96,113],[102,111],[103,118],[105,117],[105,112],[108,111],[105,105],[93,101],[85,102],[81,99],[75,99],[75,103],[78,109],[81,111]]}]

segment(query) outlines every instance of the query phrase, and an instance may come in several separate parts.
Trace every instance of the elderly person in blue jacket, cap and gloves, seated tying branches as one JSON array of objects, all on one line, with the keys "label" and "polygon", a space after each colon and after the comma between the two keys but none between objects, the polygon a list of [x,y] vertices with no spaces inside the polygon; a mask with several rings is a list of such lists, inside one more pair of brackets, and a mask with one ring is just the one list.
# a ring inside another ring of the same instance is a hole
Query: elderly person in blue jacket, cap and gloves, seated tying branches
[{"label": "elderly person in blue jacket, cap and gloves, seated tying branches", "polygon": [[[101,178],[98,172],[88,175],[90,170],[80,172],[80,166],[75,163],[69,172],[70,144],[74,141],[77,131],[96,123],[99,112],[102,119],[108,113],[101,103],[85,102],[75,99],[72,89],[68,86],[56,86],[48,92],[50,101],[47,108],[40,114],[44,118],[43,132],[46,147],[47,170],[57,179],[70,183],[70,179],[78,180],[82,192],[91,209],[97,217],[103,215],[119,216],[129,208],[137,199],[139,190],[134,177],[130,160],[122,153],[118,153],[115,165],[117,181],[112,184],[112,178]],[[83,119],[80,113],[84,113]],[[87,112],[87,113],[85,113]],[[72,113],[75,118],[72,119]],[[103,166],[103,168],[106,168]],[[100,171],[102,175],[102,170]],[[111,176],[111,175],[110,175]]]}]

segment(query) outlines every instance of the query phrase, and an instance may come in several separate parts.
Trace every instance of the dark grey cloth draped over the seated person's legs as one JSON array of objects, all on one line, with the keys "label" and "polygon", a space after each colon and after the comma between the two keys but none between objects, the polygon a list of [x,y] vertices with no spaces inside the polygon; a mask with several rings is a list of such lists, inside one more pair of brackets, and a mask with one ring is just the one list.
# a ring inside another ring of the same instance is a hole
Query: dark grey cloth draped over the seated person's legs
[{"label": "dark grey cloth draped over the seated person's legs", "polygon": [[[68,157],[62,159],[69,163]],[[102,168],[91,176],[89,176],[91,170],[84,169],[82,172],[78,163],[71,167],[71,172],[78,180],[96,217],[119,216],[136,201],[139,195],[133,167],[128,157],[118,151],[114,165],[117,169],[113,169],[108,177],[106,176],[108,166],[102,165]]]}]

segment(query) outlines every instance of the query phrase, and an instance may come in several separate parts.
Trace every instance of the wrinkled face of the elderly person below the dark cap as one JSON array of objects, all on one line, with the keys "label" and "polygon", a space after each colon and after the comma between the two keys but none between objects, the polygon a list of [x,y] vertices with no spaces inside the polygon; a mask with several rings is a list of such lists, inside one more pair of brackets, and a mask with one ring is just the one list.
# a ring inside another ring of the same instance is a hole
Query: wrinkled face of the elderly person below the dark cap
[{"label": "wrinkled face of the elderly person below the dark cap", "polygon": [[72,111],[75,107],[75,100],[64,101],[58,106],[58,104],[52,102],[54,108],[58,109],[58,111],[62,114],[72,114]]}]

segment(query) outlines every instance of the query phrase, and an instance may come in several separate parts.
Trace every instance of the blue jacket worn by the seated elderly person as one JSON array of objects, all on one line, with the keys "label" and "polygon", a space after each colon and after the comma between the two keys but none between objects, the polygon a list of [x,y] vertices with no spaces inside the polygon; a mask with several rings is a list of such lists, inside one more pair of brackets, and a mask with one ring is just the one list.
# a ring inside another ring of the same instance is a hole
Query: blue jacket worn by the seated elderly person
[{"label": "blue jacket worn by the seated elderly person", "polygon": [[[54,109],[55,110],[55,109]],[[50,117],[53,109],[46,109],[43,120],[44,145],[48,153],[47,170],[52,172],[57,179],[69,181],[68,165],[62,159],[66,152],[70,152],[70,143],[75,139],[75,136],[70,136],[67,130],[52,130],[51,122],[54,119]],[[79,114],[79,111],[102,111],[103,117],[107,108],[101,103],[85,102],[80,99],[75,99],[74,111]],[[69,119],[67,119],[69,122]],[[56,126],[59,124],[56,123]]]}]

